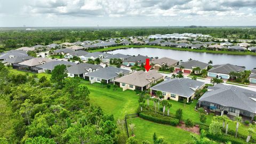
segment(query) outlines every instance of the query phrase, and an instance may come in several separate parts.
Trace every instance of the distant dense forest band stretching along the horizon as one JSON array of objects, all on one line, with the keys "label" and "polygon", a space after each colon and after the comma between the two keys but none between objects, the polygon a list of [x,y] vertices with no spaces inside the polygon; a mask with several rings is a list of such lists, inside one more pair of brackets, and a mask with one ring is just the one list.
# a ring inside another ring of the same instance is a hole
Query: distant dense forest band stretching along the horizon
[{"label": "distant dense forest band stretching along the horizon", "polygon": [[255,39],[256,28],[70,28],[70,29],[38,29],[7,30],[0,33],[0,44],[5,48],[50,44],[53,41],[75,42],[109,37],[147,36],[153,34],[201,33],[218,38]]}]

